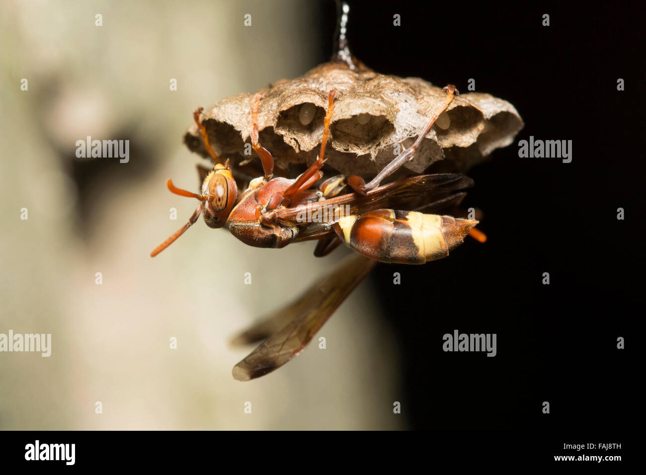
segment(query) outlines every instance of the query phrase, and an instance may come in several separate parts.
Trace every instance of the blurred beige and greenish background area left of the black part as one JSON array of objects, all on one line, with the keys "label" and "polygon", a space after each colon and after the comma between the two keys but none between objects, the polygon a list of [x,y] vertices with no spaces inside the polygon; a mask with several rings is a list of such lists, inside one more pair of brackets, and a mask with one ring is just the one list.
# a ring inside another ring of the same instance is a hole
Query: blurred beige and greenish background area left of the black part
[{"label": "blurred beige and greenish background area left of the black part", "polygon": [[[326,350],[311,344],[251,383],[231,376],[253,346],[229,348],[229,338],[345,249],[328,259],[309,243],[254,249],[200,218],[149,257],[193,213],[165,182],[197,189],[201,159],[182,144],[194,109],[326,61],[335,5],[8,0],[0,9],[0,333],[52,334],[48,358],[0,355],[0,428],[405,427],[392,413],[395,341],[366,284],[318,334]],[[129,139],[129,162],[76,158],[86,136]]]}]

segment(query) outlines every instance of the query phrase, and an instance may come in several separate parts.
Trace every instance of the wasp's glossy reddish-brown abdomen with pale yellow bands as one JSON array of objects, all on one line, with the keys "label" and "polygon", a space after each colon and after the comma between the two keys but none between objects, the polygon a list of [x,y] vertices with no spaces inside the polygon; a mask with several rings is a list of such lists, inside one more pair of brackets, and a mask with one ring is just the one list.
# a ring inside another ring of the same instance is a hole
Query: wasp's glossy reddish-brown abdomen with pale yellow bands
[{"label": "wasp's glossy reddish-brown abdomen with pale yellow bands", "polygon": [[334,228],[349,248],[370,259],[424,264],[448,256],[476,224],[452,216],[377,209],[346,216]]}]

